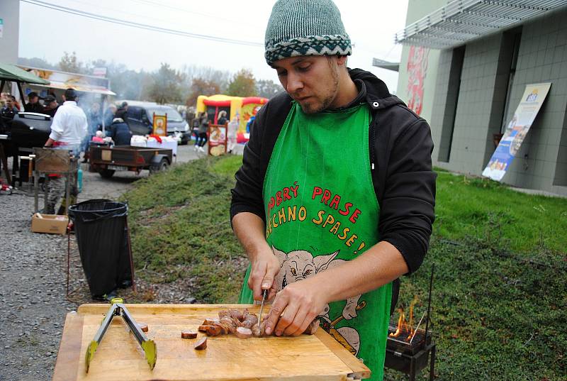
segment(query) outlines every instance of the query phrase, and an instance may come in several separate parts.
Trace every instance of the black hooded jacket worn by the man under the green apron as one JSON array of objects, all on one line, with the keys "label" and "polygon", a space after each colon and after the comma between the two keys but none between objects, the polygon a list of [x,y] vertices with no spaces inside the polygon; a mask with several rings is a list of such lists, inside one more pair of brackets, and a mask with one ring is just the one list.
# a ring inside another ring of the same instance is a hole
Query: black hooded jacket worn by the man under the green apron
[{"label": "black hooded jacket worn by the man under the green apron", "polygon": [[[380,205],[378,233],[402,253],[411,272],[420,267],[432,233],[435,178],[430,126],[388,92],[386,84],[364,70],[349,70],[359,88],[353,103],[371,113],[369,150],[374,190]],[[245,146],[242,167],[232,189],[230,218],[247,211],[266,221],[262,186],[271,152],[291,110],[286,93],[274,96],[258,112]],[[347,107],[353,106],[349,104]],[[337,144],[342,137],[337,136]]]}]

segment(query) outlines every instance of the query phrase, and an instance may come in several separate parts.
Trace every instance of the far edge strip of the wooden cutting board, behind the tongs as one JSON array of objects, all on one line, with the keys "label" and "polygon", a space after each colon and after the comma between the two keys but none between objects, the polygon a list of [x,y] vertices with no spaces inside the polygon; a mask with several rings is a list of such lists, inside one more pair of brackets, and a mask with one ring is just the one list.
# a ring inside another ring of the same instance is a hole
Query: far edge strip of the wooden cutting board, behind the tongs
[{"label": "far edge strip of the wooden cutting board, behind the tongs", "polygon": [[[125,303],[128,311],[133,314],[194,314],[195,310],[218,311],[219,309],[255,309],[260,308],[259,304],[128,304]],[[77,314],[106,314],[110,308],[108,303],[86,303],[81,304],[77,309]]]}]

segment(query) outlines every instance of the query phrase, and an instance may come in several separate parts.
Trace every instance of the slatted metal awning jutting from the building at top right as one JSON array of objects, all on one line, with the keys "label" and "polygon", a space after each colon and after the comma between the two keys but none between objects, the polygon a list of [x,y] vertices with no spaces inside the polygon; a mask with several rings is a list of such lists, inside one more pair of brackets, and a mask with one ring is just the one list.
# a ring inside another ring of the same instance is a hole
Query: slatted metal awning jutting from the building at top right
[{"label": "slatted metal awning jutting from the building at top right", "polygon": [[395,43],[454,48],[567,6],[567,0],[453,0],[395,34]]}]

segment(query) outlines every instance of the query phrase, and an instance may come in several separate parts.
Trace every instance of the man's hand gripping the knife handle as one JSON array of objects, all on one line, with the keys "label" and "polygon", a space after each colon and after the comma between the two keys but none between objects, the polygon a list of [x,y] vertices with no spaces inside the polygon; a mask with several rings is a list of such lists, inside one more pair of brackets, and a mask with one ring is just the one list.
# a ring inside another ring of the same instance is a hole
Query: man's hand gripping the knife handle
[{"label": "man's hand gripping the knife handle", "polygon": [[278,258],[271,250],[263,250],[254,255],[250,264],[252,269],[248,277],[248,287],[254,293],[254,300],[262,300],[264,289],[269,289],[267,300],[276,296],[277,287],[274,279],[281,267]]}]

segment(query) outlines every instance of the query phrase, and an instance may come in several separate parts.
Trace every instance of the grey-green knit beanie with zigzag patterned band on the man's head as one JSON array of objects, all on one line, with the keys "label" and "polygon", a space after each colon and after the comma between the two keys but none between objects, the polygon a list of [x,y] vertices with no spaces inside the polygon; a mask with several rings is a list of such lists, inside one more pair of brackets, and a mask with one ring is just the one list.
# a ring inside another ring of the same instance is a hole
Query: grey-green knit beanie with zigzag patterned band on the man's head
[{"label": "grey-green knit beanie with zigzag patterned band on the man's head", "polygon": [[278,0],[264,41],[266,62],[298,55],[351,55],[350,38],[332,0]]}]

